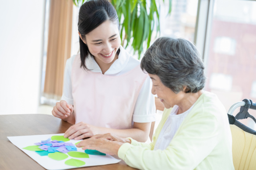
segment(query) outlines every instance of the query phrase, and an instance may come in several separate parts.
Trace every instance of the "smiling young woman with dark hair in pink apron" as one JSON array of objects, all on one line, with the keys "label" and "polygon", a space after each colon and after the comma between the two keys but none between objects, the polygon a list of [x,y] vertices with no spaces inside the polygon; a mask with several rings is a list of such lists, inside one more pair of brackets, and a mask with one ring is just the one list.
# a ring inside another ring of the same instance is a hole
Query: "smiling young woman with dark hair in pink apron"
[{"label": "smiling young woman with dark hair in pink apron", "polygon": [[107,0],[89,0],[79,11],[80,54],[67,60],[63,96],[53,116],[74,124],[64,134],[83,139],[112,133],[148,139],[155,121],[150,78],[121,46],[119,20]]}]

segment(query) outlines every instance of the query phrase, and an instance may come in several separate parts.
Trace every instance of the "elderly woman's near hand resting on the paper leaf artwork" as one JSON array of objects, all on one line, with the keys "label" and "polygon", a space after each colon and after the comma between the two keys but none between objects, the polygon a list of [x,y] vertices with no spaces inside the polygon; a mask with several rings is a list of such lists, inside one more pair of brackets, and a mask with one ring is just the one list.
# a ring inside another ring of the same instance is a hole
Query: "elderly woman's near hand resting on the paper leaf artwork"
[{"label": "elderly woman's near hand resting on the paper leaf artwork", "polygon": [[109,139],[106,139],[103,136],[101,138],[92,137],[90,139],[84,139],[76,146],[82,147],[83,150],[98,150],[99,152],[106,153],[109,155],[117,155],[120,146],[122,146],[125,142],[109,140],[116,139],[116,136],[112,136],[111,134],[105,135],[105,137],[108,136]]}]

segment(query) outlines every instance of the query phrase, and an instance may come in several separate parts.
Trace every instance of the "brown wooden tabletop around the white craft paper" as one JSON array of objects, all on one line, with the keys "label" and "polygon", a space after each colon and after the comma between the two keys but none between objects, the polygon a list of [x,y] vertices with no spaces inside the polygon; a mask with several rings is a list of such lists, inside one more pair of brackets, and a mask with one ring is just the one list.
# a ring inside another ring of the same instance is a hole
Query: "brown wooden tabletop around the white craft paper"
[{"label": "brown wooden tabletop around the white craft paper", "polygon": [[[31,157],[14,146],[7,136],[65,133],[71,126],[51,115],[0,115],[0,170],[45,170]],[[117,158],[117,157],[116,157]],[[122,160],[116,164],[83,167],[76,170],[135,170]]]}]

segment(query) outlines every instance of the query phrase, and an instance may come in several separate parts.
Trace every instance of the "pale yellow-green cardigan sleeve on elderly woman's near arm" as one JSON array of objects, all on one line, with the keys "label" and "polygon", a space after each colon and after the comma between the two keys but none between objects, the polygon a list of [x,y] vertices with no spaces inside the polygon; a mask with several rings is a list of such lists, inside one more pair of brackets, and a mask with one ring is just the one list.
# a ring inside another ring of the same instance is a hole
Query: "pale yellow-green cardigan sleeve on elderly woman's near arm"
[{"label": "pale yellow-green cardigan sleeve on elderly woman's near arm", "polygon": [[218,122],[214,115],[202,110],[190,114],[175,133],[165,150],[151,150],[138,144],[123,144],[119,158],[129,166],[143,170],[193,170],[217,145]]}]

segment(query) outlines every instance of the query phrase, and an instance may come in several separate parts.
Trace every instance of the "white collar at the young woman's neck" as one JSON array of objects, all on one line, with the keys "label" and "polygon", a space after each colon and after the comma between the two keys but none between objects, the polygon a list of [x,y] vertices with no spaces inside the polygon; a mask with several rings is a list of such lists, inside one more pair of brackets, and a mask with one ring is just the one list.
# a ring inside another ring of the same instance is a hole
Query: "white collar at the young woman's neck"
[{"label": "white collar at the young woman's neck", "polygon": [[[118,59],[113,62],[110,68],[105,72],[105,75],[113,75],[117,74],[123,70],[123,68],[127,65],[130,54],[120,45],[119,47],[120,53],[118,55]],[[89,54],[90,55],[90,54]],[[102,73],[101,68],[96,63],[95,59],[91,56],[86,60],[86,67],[90,69],[90,71],[95,73]]]}]

